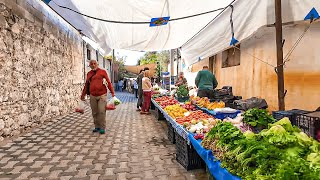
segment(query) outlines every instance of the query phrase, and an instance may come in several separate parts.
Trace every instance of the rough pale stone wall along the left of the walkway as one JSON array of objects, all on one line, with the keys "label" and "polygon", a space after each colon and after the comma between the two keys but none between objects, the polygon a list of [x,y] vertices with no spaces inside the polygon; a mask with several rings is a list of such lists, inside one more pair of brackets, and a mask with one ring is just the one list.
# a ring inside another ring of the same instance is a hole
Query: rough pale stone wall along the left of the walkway
[{"label": "rough pale stone wall along the left of the walkway", "polygon": [[0,0],[0,141],[74,110],[82,43],[40,0]]}]

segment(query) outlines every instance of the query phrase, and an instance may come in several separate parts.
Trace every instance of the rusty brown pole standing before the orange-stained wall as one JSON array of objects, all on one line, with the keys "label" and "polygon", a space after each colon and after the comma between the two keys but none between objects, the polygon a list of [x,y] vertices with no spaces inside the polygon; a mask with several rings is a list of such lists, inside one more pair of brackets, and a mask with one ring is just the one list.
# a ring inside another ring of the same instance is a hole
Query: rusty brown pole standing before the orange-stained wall
[{"label": "rusty brown pole standing before the orange-stained wall", "polygon": [[279,110],[285,110],[284,102],[284,73],[283,73],[283,42],[282,42],[282,12],[281,0],[275,0],[276,15],[276,45],[277,45],[277,76],[278,76],[278,105]]}]

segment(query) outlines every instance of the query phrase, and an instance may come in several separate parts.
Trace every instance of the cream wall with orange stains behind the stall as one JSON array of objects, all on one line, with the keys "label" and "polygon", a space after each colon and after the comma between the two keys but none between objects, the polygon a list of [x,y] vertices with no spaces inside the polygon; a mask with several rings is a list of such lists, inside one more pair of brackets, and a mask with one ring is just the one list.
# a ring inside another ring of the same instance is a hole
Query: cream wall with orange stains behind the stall
[{"label": "cream wall with orange stains behind the stall", "polygon": [[[284,27],[284,56],[306,26],[300,24]],[[285,98],[286,109],[315,110],[320,106],[320,51],[316,45],[320,42],[319,28],[319,22],[311,26],[285,66],[285,89],[288,90]],[[215,72],[219,81],[218,88],[230,85],[234,94],[243,98],[265,98],[269,109],[277,110],[277,74],[273,67],[254,59],[251,55],[276,65],[274,28],[263,28],[241,43],[240,66],[221,68],[222,53],[217,54]]]}]

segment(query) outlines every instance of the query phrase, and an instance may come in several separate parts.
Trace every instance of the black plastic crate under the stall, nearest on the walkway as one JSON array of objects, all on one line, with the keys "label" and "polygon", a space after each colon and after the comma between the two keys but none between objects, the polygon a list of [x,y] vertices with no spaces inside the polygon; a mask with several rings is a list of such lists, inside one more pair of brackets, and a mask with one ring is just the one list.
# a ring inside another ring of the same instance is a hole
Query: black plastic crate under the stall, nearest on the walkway
[{"label": "black plastic crate under the stall, nearest on the walkway", "polygon": [[192,145],[179,134],[176,137],[176,160],[188,171],[192,169],[201,169],[205,167],[204,161],[198,155]]}]

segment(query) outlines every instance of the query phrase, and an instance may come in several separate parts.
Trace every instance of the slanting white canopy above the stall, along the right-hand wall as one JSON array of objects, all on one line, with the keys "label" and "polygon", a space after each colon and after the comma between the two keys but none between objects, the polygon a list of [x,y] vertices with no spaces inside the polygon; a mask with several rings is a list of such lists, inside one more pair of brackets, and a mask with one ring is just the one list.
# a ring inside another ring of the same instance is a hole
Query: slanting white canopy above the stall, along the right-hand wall
[{"label": "slanting white canopy above the stall, along the right-hand wall", "polygon": [[[238,41],[250,37],[261,27],[275,23],[274,0],[238,0],[233,6],[234,37]],[[282,21],[303,21],[313,7],[320,10],[320,1],[282,0]],[[182,47],[181,55],[187,65],[230,47],[230,14],[231,8],[228,8]]]}]

